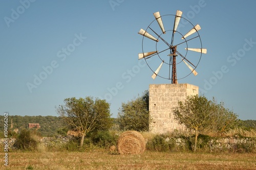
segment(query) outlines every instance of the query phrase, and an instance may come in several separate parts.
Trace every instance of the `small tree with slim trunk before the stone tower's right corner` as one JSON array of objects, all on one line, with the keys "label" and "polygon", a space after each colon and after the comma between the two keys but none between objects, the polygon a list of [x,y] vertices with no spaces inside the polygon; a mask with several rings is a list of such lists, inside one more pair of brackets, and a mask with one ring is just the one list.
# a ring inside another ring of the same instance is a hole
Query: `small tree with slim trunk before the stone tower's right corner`
[{"label": "small tree with slim trunk before the stone tower's right corner", "polygon": [[178,102],[178,107],[174,109],[175,119],[188,129],[195,130],[195,147],[197,149],[197,137],[200,131],[209,128],[212,123],[211,115],[216,112],[216,105],[208,101],[205,96],[187,96],[184,102]]}]

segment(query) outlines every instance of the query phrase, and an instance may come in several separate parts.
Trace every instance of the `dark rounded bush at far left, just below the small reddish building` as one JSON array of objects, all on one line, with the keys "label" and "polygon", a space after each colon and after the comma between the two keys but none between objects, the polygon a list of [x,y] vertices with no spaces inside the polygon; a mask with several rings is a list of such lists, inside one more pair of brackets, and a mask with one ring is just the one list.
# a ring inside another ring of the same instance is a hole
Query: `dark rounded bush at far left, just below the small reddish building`
[{"label": "dark rounded bush at far left, just below the small reddish building", "polygon": [[20,150],[36,150],[37,142],[34,139],[32,131],[28,129],[23,129],[18,135],[14,147]]}]

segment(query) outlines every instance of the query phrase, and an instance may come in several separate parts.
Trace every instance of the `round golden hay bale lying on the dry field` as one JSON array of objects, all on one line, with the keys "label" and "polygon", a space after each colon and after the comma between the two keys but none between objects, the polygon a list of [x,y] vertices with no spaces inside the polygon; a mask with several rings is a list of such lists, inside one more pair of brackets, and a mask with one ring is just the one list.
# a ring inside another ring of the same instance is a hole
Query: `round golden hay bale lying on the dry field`
[{"label": "round golden hay bale lying on the dry field", "polygon": [[123,132],[118,138],[117,150],[119,154],[141,154],[145,148],[145,139],[137,131]]}]

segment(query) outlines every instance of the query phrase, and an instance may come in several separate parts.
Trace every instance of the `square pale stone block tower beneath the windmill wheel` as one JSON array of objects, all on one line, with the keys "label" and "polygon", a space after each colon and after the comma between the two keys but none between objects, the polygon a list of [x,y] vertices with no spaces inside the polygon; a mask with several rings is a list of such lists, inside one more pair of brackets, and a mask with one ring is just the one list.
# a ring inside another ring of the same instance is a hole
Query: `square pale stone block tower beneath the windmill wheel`
[{"label": "square pale stone block tower beneath the windmill wheel", "polygon": [[150,85],[150,132],[164,134],[175,129],[182,130],[174,119],[173,109],[188,95],[197,95],[198,86],[191,84],[151,84]]}]

